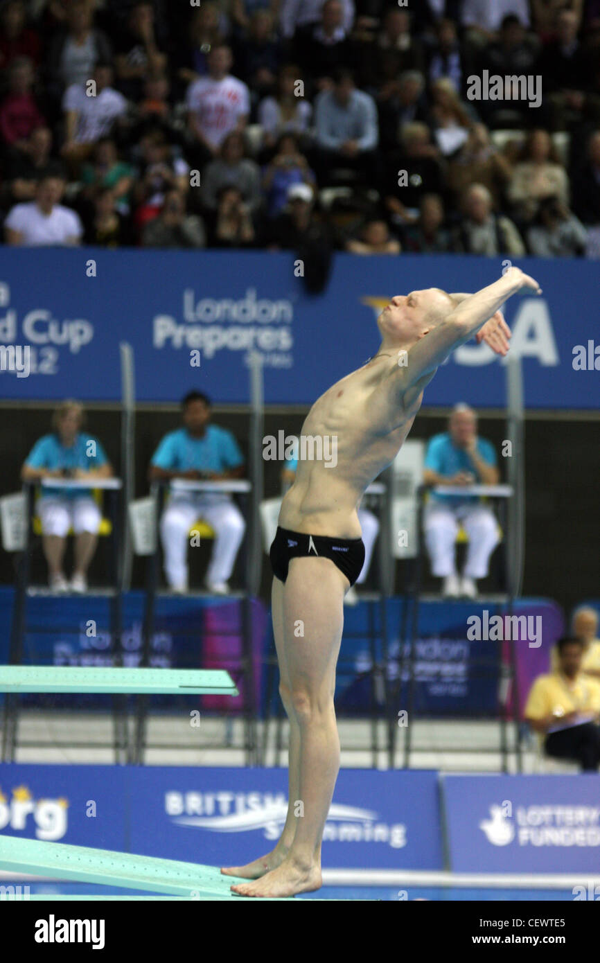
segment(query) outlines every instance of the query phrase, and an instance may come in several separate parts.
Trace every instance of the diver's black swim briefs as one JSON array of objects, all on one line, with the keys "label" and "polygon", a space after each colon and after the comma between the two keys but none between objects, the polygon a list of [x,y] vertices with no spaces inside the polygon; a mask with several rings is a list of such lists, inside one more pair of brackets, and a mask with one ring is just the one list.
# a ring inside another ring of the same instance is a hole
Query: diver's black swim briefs
[{"label": "diver's black swim briefs", "polygon": [[364,564],[365,546],[362,538],[307,535],[277,526],[277,534],[274,536],[269,553],[274,576],[281,582],[285,582],[290,559],[300,559],[304,556],[330,559],[353,586]]}]

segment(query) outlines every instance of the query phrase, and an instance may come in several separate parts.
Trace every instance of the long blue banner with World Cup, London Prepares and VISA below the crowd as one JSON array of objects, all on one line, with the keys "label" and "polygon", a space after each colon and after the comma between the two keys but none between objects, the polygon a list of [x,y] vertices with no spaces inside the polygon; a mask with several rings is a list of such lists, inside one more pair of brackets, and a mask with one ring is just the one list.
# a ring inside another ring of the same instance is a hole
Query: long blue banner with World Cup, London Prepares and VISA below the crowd
[{"label": "long blue banner with World Cup, London Prepares and VISA below the crowd", "polygon": [[[248,354],[258,351],[267,404],[313,403],[378,350],[376,320],[391,297],[429,287],[475,291],[506,262],[338,253],[320,296],[306,293],[294,264],[293,254],[262,251],[5,247],[1,396],[114,401],[118,344],[127,341],[141,402],[177,401],[195,386],[217,403],[248,403]],[[520,266],[543,289],[507,305],[526,404],[596,408],[600,340],[589,311],[597,266],[534,258]],[[504,406],[504,364],[486,345],[463,345],[428,386],[426,404]]]}]

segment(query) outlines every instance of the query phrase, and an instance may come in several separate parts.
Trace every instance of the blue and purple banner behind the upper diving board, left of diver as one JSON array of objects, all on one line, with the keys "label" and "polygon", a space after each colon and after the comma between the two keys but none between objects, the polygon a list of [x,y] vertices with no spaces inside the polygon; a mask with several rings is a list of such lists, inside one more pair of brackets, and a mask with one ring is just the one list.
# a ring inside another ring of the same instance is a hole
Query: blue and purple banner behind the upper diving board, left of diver
[{"label": "blue and purple banner behind the upper diving board, left of diver", "polygon": [[[9,662],[13,588],[0,586],[0,664]],[[134,590],[122,596],[120,649],[123,665],[135,668],[143,652],[145,593]],[[112,665],[111,600],[106,596],[34,596],[27,601],[28,631],[24,664]],[[233,677],[239,695],[152,695],[152,706],[177,708],[201,705],[204,709],[239,713],[244,710],[244,656],[241,603],[232,599],[159,597],[155,632],[150,639],[149,664],[153,668],[223,668]],[[265,644],[267,610],[260,599],[250,601],[251,648],[254,664],[254,700],[260,699],[260,662]],[[0,694],[0,705],[3,696]],[[26,705],[96,708],[110,711],[107,695],[22,694]]]}]

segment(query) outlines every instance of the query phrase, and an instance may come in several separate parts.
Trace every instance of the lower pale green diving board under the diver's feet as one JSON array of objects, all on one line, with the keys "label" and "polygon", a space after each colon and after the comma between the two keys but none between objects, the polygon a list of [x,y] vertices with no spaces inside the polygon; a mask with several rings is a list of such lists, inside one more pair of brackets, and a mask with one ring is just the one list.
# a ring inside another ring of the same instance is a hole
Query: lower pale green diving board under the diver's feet
[{"label": "lower pale green diving board under the diver's feet", "polygon": [[[233,883],[248,879],[223,876],[217,867],[180,863],[154,856],[138,856],[87,846],[43,843],[0,834],[0,869],[27,872],[51,879],[100,883],[124,889],[145,890],[163,896],[241,899]],[[249,897],[248,897],[249,898]]]}]

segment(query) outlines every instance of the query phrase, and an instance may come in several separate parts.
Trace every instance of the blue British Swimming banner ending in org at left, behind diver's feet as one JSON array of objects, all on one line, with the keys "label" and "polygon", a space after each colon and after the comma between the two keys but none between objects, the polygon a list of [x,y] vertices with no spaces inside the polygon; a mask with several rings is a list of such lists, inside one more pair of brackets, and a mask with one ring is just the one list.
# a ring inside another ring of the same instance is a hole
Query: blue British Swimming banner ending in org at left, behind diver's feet
[{"label": "blue British Swimming banner ending in org at left, behind diver's feet", "polygon": [[[239,866],[273,848],[287,799],[283,768],[4,764],[0,834]],[[441,869],[437,773],[343,769],[323,862],[336,869]]]}]

